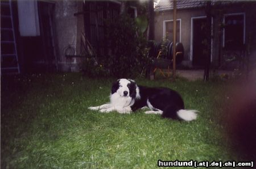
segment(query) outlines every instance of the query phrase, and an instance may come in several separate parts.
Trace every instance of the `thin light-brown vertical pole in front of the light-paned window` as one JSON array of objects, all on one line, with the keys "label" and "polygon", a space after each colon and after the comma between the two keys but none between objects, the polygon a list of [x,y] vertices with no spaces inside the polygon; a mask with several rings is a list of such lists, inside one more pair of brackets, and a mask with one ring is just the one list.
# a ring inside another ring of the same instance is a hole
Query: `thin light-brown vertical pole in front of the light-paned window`
[{"label": "thin light-brown vertical pole in front of the light-paned window", "polygon": [[176,78],[176,27],[177,27],[177,23],[176,23],[176,14],[177,14],[177,9],[176,9],[176,0],[174,1],[174,31],[173,31],[173,35],[174,35],[174,40],[173,40],[173,45],[172,45],[172,77],[175,79]]}]

